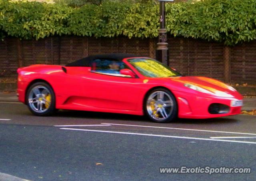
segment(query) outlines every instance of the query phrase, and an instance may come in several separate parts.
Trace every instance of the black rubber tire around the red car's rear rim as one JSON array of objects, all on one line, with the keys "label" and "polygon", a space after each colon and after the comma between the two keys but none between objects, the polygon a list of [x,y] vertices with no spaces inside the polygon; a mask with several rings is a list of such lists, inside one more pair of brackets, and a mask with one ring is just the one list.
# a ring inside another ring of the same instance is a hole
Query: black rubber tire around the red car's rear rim
[{"label": "black rubber tire around the red car's rear rim", "polygon": [[[50,92],[50,96],[51,96],[51,101],[50,101],[50,105],[48,105],[48,109],[44,112],[37,112],[36,110],[34,110],[34,108],[32,107],[32,105],[30,105],[29,103],[29,95],[31,93],[31,91],[33,90],[33,88],[38,87],[38,86],[42,86],[47,88],[47,90]],[[56,103],[56,99],[55,99],[55,94],[54,91],[52,89],[52,87],[47,84],[46,82],[36,82],[34,84],[32,84],[29,88],[28,91],[26,93],[26,104],[28,106],[28,109],[37,116],[48,116],[48,115],[52,115],[56,109],[55,109],[55,103]]]}]

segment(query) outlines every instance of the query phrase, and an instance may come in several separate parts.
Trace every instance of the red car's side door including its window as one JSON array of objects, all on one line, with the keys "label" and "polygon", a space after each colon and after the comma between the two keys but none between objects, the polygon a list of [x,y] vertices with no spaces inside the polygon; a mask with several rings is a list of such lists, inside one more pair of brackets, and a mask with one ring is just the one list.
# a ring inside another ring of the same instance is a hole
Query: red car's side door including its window
[{"label": "red car's side door including its window", "polygon": [[[88,106],[107,109],[141,110],[143,87],[140,78],[120,74],[128,68],[124,62],[116,60],[93,60],[91,71],[84,81],[83,95]],[[141,104],[141,103],[140,103]]]}]

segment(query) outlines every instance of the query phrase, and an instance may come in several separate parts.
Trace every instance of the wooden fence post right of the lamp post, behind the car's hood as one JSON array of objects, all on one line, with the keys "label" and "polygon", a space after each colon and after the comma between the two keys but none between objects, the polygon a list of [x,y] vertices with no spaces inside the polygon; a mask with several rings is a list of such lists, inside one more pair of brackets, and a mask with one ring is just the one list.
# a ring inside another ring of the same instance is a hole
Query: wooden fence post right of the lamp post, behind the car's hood
[{"label": "wooden fence post right of the lamp post, behind the car's hood", "polygon": [[230,83],[230,47],[224,46],[224,82]]}]

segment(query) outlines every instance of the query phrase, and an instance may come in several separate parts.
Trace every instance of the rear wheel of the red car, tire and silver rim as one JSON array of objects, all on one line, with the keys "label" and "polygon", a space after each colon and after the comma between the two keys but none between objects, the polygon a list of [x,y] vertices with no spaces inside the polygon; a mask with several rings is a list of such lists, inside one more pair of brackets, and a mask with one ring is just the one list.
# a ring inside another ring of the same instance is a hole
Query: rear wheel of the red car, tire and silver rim
[{"label": "rear wheel of the red car, tire and silver rim", "polygon": [[27,91],[26,101],[28,108],[35,115],[45,116],[54,113],[54,91],[44,82],[37,82],[30,86]]}]

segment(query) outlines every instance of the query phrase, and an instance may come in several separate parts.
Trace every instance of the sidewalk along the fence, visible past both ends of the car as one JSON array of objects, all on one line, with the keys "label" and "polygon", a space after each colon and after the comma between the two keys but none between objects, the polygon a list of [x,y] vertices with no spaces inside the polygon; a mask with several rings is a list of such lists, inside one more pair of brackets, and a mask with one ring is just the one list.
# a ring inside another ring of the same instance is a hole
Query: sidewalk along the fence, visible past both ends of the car
[{"label": "sidewalk along the fence, visible past both ends of the car", "polygon": [[[0,101],[16,102],[18,97],[16,92],[11,93],[2,93],[0,92]],[[242,107],[243,111],[251,111],[256,109],[256,97],[244,98],[244,106]]]}]

